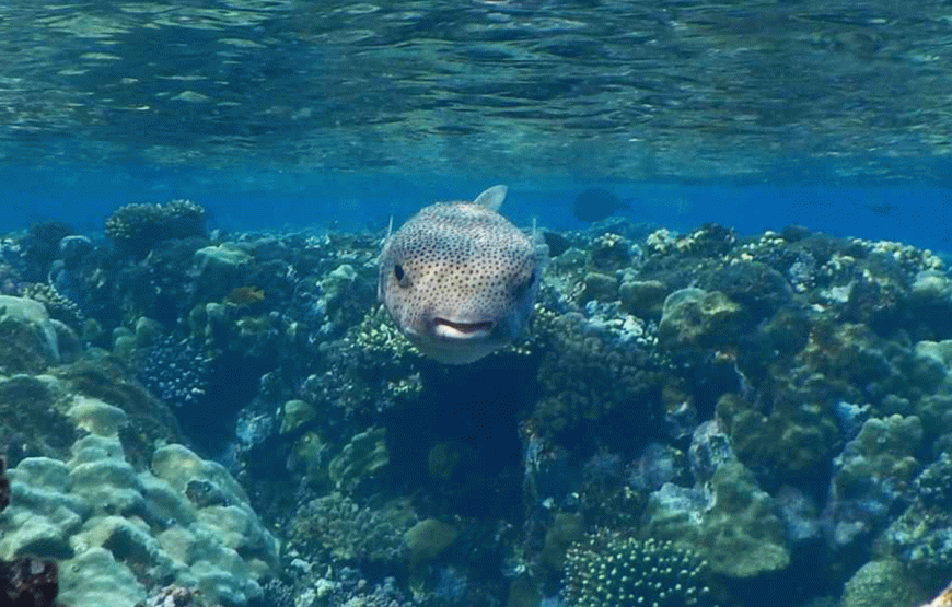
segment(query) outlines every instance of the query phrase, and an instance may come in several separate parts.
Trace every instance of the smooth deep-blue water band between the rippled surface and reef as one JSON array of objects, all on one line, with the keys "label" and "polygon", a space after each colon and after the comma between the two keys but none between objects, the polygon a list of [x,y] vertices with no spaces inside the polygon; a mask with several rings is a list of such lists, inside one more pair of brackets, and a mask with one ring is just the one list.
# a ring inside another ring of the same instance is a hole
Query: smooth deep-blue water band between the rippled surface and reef
[{"label": "smooth deep-blue water band between the rippled surface and reef", "polygon": [[622,214],[674,231],[707,222],[742,234],[803,225],[838,236],[891,240],[952,252],[952,189],[930,185],[834,187],[823,184],[678,184],[529,179],[498,175],[400,176],[372,172],[327,173],[202,171],[188,167],[7,167],[0,172],[5,212],[0,229],[65,221],[84,232],[128,202],[187,198],[210,213],[212,226],[230,231],[274,229],[384,230],[433,200],[473,197],[507,183],[507,214],[518,224],[535,220],[550,230],[584,227],[571,213],[572,197],[600,186],[632,198]]}]

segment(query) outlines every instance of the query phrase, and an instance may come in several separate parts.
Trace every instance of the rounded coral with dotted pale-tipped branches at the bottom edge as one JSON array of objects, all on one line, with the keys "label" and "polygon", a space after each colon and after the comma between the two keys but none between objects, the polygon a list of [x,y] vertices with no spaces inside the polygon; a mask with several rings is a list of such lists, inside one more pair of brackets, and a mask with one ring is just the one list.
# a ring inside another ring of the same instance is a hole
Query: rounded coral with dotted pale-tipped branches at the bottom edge
[{"label": "rounded coral with dotted pale-tipped branches at the bottom edge", "polygon": [[566,557],[570,607],[686,607],[713,605],[707,563],[671,541],[591,536]]}]

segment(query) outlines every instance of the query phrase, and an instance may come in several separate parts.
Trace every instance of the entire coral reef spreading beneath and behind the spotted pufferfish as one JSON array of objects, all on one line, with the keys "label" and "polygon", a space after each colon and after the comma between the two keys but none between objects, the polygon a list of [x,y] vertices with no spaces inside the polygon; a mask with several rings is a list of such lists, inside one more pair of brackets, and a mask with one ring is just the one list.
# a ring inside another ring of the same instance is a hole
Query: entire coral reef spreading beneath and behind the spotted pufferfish
[{"label": "entire coral reef spreading beneath and behind the spotted pufferfish", "polygon": [[646,551],[740,607],[952,577],[930,252],[548,233],[527,335],[446,369],[374,306],[381,233],[207,234],[174,201],[106,235],[0,238],[0,552],[57,559],[74,603],[596,605],[587,568]]}]

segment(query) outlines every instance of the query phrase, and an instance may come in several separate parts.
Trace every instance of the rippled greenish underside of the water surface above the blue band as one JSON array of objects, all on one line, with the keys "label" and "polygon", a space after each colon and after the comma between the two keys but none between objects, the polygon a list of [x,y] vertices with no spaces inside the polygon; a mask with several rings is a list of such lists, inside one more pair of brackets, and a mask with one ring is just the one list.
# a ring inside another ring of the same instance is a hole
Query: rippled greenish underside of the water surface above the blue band
[{"label": "rippled greenish underside of the water surface above the blue band", "polygon": [[5,2],[8,161],[949,177],[921,2]]}]

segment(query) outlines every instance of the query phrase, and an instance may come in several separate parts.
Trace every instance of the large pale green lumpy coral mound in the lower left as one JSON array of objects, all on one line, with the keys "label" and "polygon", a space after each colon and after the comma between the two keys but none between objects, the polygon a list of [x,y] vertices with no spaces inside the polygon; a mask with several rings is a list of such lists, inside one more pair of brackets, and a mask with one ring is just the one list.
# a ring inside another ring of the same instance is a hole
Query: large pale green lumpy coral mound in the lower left
[{"label": "large pale green lumpy coral mound in the lower left", "polygon": [[[2,558],[62,560],[61,600],[72,605],[131,606],[155,581],[232,605],[260,596],[255,579],[276,565],[278,544],[224,469],[169,444],[153,472],[138,472],[118,437],[121,409],[77,397],[68,416],[85,434],[69,460],[27,457],[10,470]],[[196,485],[220,498],[195,500]]]}]

